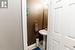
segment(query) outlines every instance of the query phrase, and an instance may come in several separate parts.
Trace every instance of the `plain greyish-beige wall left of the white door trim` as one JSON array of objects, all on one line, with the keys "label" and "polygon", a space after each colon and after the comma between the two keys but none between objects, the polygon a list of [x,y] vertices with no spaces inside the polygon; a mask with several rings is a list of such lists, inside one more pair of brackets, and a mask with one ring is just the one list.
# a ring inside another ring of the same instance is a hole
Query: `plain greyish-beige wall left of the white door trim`
[{"label": "plain greyish-beige wall left of the white door trim", "polygon": [[23,50],[21,17],[21,0],[0,8],[0,50]]}]

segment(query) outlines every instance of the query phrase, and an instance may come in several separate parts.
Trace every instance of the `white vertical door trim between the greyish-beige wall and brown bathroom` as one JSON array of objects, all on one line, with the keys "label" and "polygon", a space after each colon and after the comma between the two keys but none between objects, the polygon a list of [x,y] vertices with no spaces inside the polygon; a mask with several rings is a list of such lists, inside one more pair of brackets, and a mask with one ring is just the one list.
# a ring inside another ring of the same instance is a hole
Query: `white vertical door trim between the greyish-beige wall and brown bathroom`
[{"label": "white vertical door trim between the greyish-beige wall and brown bathroom", "polygon": [[24,50],[27,49],[27,16],[26,16],[26,0],[22,0],[22,22],[23,22],[23,41]]}]

